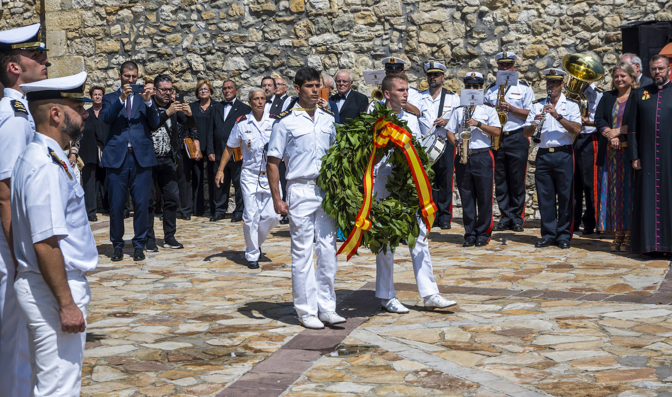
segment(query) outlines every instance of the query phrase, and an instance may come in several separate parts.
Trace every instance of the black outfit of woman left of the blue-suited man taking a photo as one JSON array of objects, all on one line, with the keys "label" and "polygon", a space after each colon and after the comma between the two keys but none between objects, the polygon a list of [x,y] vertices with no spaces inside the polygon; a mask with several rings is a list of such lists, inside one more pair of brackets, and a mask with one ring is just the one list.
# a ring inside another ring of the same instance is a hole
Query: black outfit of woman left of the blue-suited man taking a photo
[{"label": "black outfit of woman left of the blue-suited man taking a photo", "polygon": [[101,186],[103,194],[103,207],[108,209],[105,182],[105,168],[98,166],[98,148],[103,147],[103,142],[108,139],[108,130],[110,126],[105,124],[100,118],[95,116],[93,108],[87,110],[87,117],[84,124],[84,135],[79,141],[77,155],[84,162],[84,168],[81,170],[82,186],[84,188],[84,205],[89,217],[95,216],[97,207],[98,189],[96,183]]}]

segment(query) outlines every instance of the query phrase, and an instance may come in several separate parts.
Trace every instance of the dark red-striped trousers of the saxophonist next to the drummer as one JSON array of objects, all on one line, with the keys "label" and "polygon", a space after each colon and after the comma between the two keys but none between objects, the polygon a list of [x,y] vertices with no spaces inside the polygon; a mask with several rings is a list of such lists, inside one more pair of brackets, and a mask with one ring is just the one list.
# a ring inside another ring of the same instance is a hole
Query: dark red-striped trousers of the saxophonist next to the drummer
[{"label": "dark red-striped trousers of the saxophonist next to the drummer", "polygon": [[484,151],[469,156],[466,164],[455,158],[455,177],[462,199],[464,239],[485,238],[493,232],[493,174],[495,156]]}]

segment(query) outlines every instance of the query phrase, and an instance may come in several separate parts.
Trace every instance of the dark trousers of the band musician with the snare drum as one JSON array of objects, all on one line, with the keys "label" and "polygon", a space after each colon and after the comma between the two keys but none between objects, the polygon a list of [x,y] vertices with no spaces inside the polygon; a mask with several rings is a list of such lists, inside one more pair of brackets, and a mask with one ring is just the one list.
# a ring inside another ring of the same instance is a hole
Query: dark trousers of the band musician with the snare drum
[{"label": "dark trousers of the band musician with the snare drum", "polygon": [[453,220],[453,164],[455,147],[446,140],[446,150],[431,166],[434,170],[434,186],[432,200],[436,204],[435,223],[444,223]]}]

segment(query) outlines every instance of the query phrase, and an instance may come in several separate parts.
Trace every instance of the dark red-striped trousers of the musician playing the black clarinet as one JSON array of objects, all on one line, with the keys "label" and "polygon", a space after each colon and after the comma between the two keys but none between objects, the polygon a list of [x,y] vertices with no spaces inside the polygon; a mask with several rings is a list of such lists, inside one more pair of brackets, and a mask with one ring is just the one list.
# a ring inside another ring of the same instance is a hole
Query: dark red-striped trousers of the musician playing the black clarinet
[{"label": "dark red-striped trousers of the musician playing the black clarinet", "polygon": [[535,166],[542,238],[569,242],[574,225],[574,151],[567,147],[551,153],[539,148]]}]

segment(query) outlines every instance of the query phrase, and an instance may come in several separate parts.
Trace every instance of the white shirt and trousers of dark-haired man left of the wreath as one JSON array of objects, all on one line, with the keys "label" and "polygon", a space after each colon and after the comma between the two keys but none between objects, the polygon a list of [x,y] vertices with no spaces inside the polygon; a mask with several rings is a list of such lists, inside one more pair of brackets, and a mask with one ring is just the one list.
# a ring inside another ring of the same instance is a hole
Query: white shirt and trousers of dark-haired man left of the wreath
[{"label": "white shirt and trousers of dark-haired man left of the wreath", "polygon": [[[317,108],[314,120],[304,110],[289,110],[273,124],[267,155],[284,159],[292,238],[292,297],[299,317],[336,311],[336,221],[322,208],[317,186],[321,158],[336,139],[334,116]],[[312,269],[312,248],[317,272]]]}]

